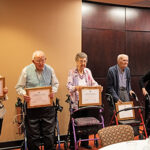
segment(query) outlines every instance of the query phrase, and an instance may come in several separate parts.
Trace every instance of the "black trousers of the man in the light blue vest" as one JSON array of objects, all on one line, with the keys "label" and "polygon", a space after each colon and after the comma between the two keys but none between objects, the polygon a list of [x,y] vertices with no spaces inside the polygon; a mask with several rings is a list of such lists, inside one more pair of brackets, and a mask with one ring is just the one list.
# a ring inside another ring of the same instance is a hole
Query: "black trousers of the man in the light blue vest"
[{"label": "black trousers of the man in the light blue vest", "polygon": [[53,150],[55,130],[54,107],[27,109],[25,127],[28,150],[39,150],[41,137],[44,143],[44,150]]}]

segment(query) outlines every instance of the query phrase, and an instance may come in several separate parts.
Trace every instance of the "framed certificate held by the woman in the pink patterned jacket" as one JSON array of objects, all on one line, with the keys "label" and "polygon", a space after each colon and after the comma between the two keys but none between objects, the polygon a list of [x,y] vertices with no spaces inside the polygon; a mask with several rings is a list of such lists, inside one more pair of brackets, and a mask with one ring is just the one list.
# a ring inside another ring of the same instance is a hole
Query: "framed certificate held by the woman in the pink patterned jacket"
[{"label": "framed certificate held by the woman in the pink patterned jacket", "polygon": [[79,107],[102,105],[102,87],[79,88]]}]

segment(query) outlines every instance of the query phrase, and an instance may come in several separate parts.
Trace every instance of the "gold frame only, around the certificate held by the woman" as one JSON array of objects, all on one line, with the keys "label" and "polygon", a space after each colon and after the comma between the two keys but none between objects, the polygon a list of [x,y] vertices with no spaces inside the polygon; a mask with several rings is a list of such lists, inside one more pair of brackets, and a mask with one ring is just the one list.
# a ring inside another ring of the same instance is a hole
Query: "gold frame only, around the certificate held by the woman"
[{"label": "gold frame only, around the certificate held by the woman", "polygon": [[[98,89],[99,90],[99,102],[98,103],[90,103],[90,104],[83,104],[82,103],[82,90],[83,89],[89,89],[89,90],[92,90],[92,89]],[[102,105],[102,86],[95,86],[95,87],[86,87],[86,86],[83,86],[83,87],[80,87],[79,90],[79,107],[83,107],[83,106],[100,106]]]}]

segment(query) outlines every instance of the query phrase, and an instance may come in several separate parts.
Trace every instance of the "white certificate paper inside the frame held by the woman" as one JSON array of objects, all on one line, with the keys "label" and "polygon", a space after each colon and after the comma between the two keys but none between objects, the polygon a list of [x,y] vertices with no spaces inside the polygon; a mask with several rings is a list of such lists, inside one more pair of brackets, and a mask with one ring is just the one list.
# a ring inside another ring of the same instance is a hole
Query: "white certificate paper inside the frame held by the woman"
[{"label": "white certificate paper inside the frame held by the woman", "polygon": [[99,89],[82,89],[82,104],[99,103]]}]

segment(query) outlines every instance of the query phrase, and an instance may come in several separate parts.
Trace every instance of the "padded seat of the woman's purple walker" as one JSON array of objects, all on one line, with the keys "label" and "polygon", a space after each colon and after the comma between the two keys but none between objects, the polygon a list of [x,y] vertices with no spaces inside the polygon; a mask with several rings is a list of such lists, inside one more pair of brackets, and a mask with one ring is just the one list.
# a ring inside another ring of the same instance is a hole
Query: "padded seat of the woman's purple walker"
[{"label": "padded seat of the woman's purple walker", "polygon": [[84,118],[76,118],[75,124],[77,126],[90,126],[90,125],[99,125],[100,121],[95,117],[84,117]]}]

